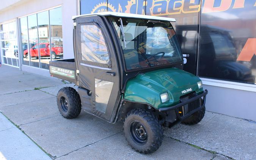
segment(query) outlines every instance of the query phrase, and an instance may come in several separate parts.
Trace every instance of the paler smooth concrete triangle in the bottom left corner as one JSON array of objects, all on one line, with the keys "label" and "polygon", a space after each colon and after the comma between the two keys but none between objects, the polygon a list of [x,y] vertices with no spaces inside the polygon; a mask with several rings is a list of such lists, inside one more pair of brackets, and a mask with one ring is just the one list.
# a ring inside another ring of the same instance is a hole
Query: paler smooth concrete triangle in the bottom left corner
[{"label": "paler smooth concrete triangle in the bottom left corner", "polygon": [[33,141],[0,113],[1,160],[50,160]]}]

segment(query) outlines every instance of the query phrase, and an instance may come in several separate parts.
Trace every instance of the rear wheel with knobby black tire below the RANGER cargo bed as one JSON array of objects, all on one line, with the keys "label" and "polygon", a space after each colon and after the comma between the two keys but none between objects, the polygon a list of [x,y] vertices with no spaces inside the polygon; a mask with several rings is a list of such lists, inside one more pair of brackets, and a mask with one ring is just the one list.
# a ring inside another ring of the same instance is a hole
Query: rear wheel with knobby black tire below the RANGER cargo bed
[{"label": "rear wheel with knobby black tire below the RANGER cargo bed", "polygon": [[74,88],[64,87],[58,91],[57,105],[64,118],[76,118],[81,112],[81,100]]}]

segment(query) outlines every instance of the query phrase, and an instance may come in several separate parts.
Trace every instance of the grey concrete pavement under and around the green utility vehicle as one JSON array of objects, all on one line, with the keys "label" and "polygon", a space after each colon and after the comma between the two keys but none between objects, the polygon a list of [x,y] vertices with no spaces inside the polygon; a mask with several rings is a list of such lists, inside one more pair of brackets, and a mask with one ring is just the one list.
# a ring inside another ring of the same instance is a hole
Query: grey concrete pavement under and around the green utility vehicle
[{"label": "grey concrete pavement under and around the green utility vehicle", "polygon": [[144,155],[127,144],[121,122],[109,124],[84,111],[78,118],[63,118],[56,94],[73,84],[8,66],[0,67],[0,73],[0,112],[14,123],[0,113],[0,158],[256,159],[253,121],[206,112],[199,124],[165,128],[160,149]]}]

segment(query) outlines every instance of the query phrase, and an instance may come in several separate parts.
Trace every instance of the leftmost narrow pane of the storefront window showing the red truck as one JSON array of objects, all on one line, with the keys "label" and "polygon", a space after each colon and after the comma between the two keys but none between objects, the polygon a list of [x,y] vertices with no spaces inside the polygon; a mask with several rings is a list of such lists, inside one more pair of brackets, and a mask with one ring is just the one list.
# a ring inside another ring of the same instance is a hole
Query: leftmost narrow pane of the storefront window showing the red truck
[{"label": "leftmost narrow pane of the storefront window showing the red truck", "polygon": [[22,55],[23,55],[22,64],[29,66],[27,17],[20,18],[20,33],[21,33]]}]

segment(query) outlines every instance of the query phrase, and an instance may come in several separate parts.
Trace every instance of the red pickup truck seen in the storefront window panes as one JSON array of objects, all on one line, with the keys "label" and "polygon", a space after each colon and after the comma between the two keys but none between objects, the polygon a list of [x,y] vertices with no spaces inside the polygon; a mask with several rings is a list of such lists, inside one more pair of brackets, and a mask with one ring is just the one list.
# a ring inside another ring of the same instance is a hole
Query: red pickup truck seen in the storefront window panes
[{"label": "red pickup truck seen in the storefront window panes", "polygon": [[[39,54],[40,57],[50,57],[50,44],[49,43],[39,43]],[[52,47],[52,59],[56,59],[57,56],[63,56],[63,47]],[[38,58],[38,44],[30,48],[30,57]],[[29,59],[28,49],[24,50],[24,58]]]}]

